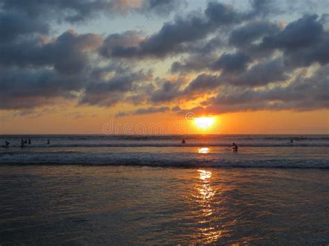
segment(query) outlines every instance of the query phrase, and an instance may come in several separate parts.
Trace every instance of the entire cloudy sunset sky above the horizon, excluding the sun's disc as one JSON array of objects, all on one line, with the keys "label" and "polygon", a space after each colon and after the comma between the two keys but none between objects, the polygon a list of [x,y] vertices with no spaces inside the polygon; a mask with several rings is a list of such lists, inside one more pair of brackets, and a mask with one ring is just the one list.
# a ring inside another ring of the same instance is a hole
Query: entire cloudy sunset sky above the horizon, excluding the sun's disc
[{"label": "entire cloudy sunset sky above the horizon, excluding the sun's disc", "polygon": [[328,0],[0,0],[0,134],[329,134],[328,47]]}]

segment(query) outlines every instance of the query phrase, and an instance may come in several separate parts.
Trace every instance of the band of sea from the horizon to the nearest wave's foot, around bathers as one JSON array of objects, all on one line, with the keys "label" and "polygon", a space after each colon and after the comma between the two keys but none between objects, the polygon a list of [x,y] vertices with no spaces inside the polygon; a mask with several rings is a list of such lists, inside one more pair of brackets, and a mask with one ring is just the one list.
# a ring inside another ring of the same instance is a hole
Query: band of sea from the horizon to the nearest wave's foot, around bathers
[{"label": "band of sea from the horizon to the nearest wave's foot, around bathers", "polygon": [[[0,164],[329,168],[328,135],[0,136]],[[47,144],[50,139],[50,144]],[[294,139],[294,143],[290,142]],[[230,151],[232,142],[238,152]]]}]

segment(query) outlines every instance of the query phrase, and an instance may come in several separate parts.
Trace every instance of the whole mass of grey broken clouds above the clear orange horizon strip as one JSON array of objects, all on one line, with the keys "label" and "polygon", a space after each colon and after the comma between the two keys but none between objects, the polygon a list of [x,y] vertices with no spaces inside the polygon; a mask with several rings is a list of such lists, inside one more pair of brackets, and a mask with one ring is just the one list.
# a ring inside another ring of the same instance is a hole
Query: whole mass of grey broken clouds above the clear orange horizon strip
[{"label": "whole mass of grey broken clouds above the clear orange horizon strip", "polygon": [[[103,37],[71,29],[55,33],[100,16],[168,17],[186,3],[0,0],[0,109],[21,109],[17,115],[24,115],[60,100],[78,106],[142,105],[118,115],[180,113],[185,109],[172,105],[187,101],[197,112],[326,108],[328,17],[298,12],[298,19],[283,24],[287,4],[253,0],[239,10],[208,1],[205,10],[165,19],[149,35],[121,28]],[[152,68],[169,61],[164,78],[154,78]],[[295,78],[316,68],[310,77]],[[206,99],[198,103],[201,97]]]}]

